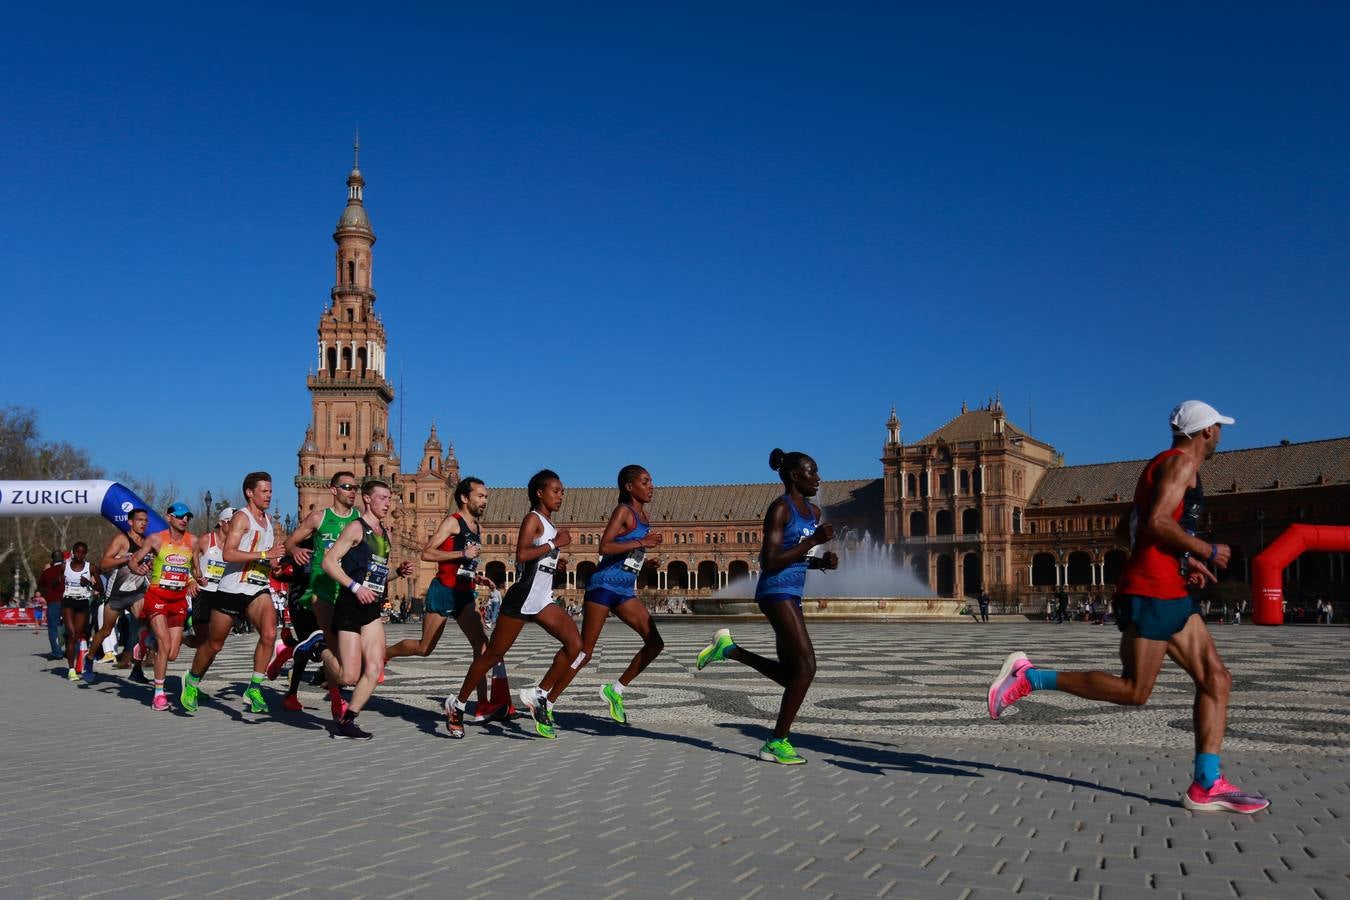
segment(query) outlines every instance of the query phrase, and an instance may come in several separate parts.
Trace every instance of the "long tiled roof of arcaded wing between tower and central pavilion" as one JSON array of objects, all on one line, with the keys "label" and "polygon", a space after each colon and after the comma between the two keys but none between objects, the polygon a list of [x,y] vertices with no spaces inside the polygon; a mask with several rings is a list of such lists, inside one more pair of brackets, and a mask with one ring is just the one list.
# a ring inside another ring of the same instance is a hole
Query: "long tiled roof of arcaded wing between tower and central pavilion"
[{"label": "long tiled roof of arcaded wing between tower and central pavilion", "polygon": [[[821,482],[815,502],[830,519],[863,519],[876,517],[882,510],[880,479]],[[774,498],[783,493],[782,482],[760,484],[690,484],[657,486],[656,495],[647,507],[652,524],[699,522],[720,524],[734,521],[759,522]],[[873,497],[875,494],[875,497]],[[568,487],[563,509],[554,521],[598,522],[609,521],[618,502],[614,487]],[[868,515],[868,507],[876,513]],[[516,524],[529,511],[524,487],[490,487],[487,494],[486,525]]]}]

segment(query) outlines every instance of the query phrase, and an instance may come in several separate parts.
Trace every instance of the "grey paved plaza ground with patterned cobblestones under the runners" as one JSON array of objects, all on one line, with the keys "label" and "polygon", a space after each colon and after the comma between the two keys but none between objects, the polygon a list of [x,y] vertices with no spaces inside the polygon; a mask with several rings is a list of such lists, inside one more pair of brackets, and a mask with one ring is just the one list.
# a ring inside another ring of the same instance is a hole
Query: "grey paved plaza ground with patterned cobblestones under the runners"
[{"label": "grey paved plaza ground with patterned cobblestones under the runners", "polygon": [[[1170,664],[1143,708],[1046,692],[988,719],[1008,650],[1114,669],[1115,629],[815,625],[794,734],[810,762],[790,768],[755,760],[776,688],[732,663],[694,671],[714,627],[662,623],[624,727],[597,690],[637,641],[612,619],[554,742],[528,719],[446,735],[458,631],[390,664],[370,742],[329,734],[317,688],[302,714],[275,694],[274,714],[243,714],[251,637],[188,716],[117,672],[69,684],[45,638],[0,634],[0,896],[1350,896],[1345,629],[1215,627],[1235,680],[1224,769],[1273,799],[1235,816],[1179,803],[1191,691]],[[763,625],[733,633],[772,648]],[[513,687],[554,646],[528,627]]]}]

